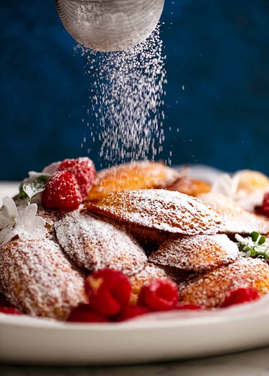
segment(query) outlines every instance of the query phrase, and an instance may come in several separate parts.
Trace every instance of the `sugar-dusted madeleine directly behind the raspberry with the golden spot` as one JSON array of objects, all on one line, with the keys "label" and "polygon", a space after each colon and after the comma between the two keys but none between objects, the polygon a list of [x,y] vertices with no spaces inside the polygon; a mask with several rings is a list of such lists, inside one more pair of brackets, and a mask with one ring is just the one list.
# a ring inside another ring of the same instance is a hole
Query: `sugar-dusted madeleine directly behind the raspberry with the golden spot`
[{"label": "sugar-dusted madeleine directly behind the raspberry with the golden spot", "polygon": [[132,276],[147,263],[144,250],[122,227],[88,212],[64,214],[55,231],[70,259],[91,272],[110,268]]}]

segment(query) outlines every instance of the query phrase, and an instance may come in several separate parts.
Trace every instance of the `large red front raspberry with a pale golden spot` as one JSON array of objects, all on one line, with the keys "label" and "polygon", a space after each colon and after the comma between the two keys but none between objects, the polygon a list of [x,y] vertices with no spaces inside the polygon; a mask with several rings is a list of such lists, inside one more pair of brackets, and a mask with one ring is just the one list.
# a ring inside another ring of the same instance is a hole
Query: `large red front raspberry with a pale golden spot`
[{"label": "large red front raspberry with a pale golden spot", "polygon": [[123,273],[103,269],[87,277],[85,292],[93,311],[117,315],[129,303],[131,284]]}]

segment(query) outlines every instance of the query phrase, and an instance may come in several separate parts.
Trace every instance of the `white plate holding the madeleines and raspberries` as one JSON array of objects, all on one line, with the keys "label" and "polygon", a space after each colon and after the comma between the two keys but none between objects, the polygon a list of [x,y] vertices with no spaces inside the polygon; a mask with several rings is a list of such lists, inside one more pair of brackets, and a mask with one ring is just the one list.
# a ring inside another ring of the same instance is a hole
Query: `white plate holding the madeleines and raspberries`
[{"label": "white plate holding the madeleines and raspberries", "polygon": [[[0,200],[17,185],[0,185]],[[0,361],[115,364],[217,355],[269,345],[269,296],[215,312],[177,311],[119,324],[0,314]]]}]

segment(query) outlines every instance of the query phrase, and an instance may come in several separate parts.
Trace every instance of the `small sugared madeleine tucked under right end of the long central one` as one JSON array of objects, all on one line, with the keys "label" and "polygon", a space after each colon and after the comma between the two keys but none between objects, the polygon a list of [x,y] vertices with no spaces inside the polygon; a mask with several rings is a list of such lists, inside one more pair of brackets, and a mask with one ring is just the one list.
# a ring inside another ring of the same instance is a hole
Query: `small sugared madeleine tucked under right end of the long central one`
[{"label": "small sugared madeleine tucked under right end of the long central one", "polygon": [[203,272],[235,261],[239,251],[227,235],[171,237],[151,253],[149,262],[182,271]]}]

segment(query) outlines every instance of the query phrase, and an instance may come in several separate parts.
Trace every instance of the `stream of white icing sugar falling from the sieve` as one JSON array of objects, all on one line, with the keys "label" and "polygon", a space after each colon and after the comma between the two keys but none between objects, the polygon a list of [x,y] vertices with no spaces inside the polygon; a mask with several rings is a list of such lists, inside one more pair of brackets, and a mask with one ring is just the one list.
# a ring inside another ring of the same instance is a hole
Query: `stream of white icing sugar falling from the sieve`
[{"label": "stream of white icing sugar falling from the sieve", "polygon": [[95,119],[87,125],[92,141],[100,143],[105,165],[154,159],[162,152],[167,80],[159,32],[158,26],[150,38],[126,51],[76,47],[87,56],[86,73],[93,82],[87,114]]}]

